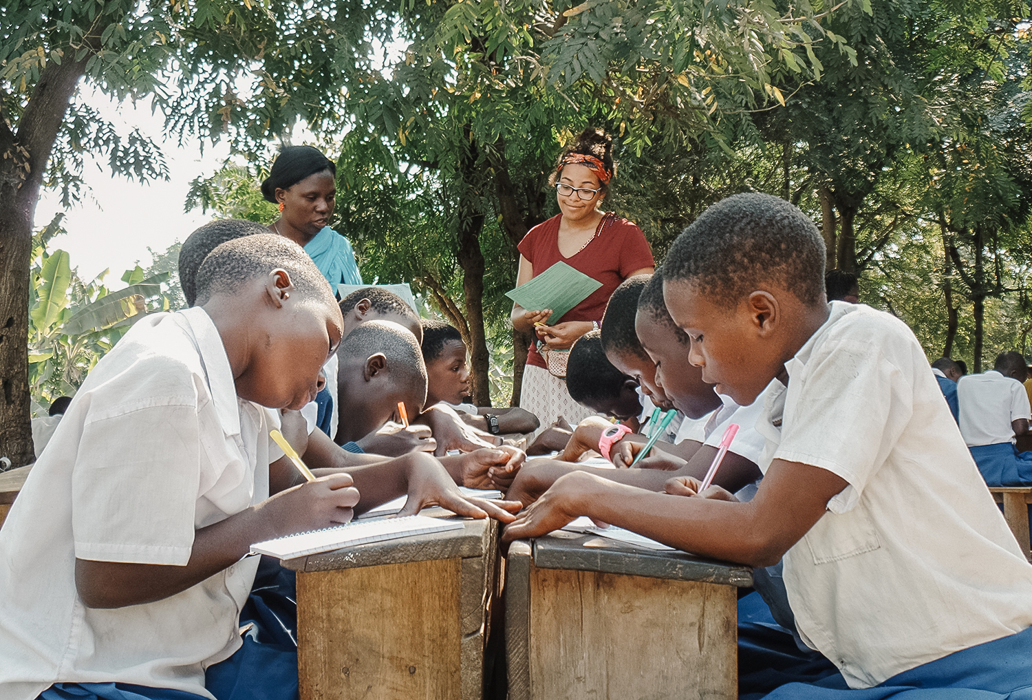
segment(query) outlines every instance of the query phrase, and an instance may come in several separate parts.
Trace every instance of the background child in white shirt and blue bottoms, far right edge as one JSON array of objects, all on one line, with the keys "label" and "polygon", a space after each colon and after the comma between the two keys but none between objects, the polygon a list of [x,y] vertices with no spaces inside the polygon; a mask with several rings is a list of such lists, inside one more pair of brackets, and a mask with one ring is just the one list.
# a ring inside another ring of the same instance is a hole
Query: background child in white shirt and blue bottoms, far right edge
[{"label": "background child in white shirt and blue bottoms, far right edge", "polygon": [[961,435],[990,486],[1032,483],[1032,452],[1017,452],[1014,438],[1029,432],[1025,358],[1003,352],[993,369],[957,383]]}]

